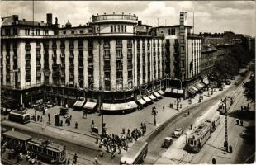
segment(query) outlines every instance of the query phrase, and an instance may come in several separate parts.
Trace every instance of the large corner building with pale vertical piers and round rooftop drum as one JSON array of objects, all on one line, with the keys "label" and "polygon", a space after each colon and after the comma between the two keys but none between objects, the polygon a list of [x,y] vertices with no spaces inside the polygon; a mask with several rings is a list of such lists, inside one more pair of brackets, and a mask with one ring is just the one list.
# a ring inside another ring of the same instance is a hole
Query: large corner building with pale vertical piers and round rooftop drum
[{"label": "large corner building with pale vertical piers and round rooftop drum", "polygon": [[[1,87],[20,104],[55,101],[136,101],[162,88],[164,36],[136,31],[135,15],[92,15],[73,27],[68,21],[2,18]],[[143,90],[141,90],[143,88]]]}]

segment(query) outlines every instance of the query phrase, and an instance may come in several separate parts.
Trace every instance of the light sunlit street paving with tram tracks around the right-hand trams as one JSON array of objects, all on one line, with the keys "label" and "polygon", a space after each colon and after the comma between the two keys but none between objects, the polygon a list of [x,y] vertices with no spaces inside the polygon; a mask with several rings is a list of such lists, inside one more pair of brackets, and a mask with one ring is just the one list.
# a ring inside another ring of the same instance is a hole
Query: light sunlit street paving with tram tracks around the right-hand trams
[{"label": "light sunlit street paving with tram tracks around the right-hand trams", "polygon": [[[247,105],[249,101],[246,100],[243,94],[243,87],[238,87],[235,91],[236,101],[230,107],[230,111],[239,110],[241,105]],[[208,108],[207,111],[202,113],[200,116],[208,115],[211,113],[215,113],[218,107],[218,102]],[[254,111],[254,106],[250,105],[251,111]],[[193,120],[193,125],[196,126],[197,120]],[[154,164],[204,164],[204,163],[212,163],[212,158],[216,158],[216,163],[219,164],[230,164],[230,163],[238,163],[237,159],[243,159],[246,151],[242,151],[244,154],[241,154],[240,148],[244,145],[243,140],[239,133],[244,130],[244,127],[249,125],[247,121],[244,121],[244,126],[236,125],[235,118],[228,117],[228,137],[229,144],[233,147],[233,153],[226,153],[225,148],[223,147],[225,141],[225,116],[220,115],[220,125],[217,127],[216,131],[211,134],[211,138],[208,139],[206,144],[201,148],[199,153],[187,153],[183,148],[185,146],[186,135],[183,134],[180,138],[174,140],[173,144],[164,151],[160,153],[156,153],[156,146],[154,146],[154,151],[149,151],[149,156],[146,158],[145,163],[154,163]],[[184,123],[184,122],[183,122]],[[184,125],[183,125],[184,126]],[[184,129],[185,132],[189,133],[192,130],[189,130],[188,127]],[[166,130],[164,130],[166,131]],[[160,134],[159,134],[160,135]],[[150,147],[150,144],[149,144]],[[152,147],[152,146],[151,146]],[[252,148],[252,147],[251,147]],[[150,149],[149,149],[150,150]],[[249,150],[249,148],[248,148]],[[154,153],[153,153],[154,152]],[[245,157],[243,160],[245,160]],[[243,161],[239,163],[244,163]]]}]

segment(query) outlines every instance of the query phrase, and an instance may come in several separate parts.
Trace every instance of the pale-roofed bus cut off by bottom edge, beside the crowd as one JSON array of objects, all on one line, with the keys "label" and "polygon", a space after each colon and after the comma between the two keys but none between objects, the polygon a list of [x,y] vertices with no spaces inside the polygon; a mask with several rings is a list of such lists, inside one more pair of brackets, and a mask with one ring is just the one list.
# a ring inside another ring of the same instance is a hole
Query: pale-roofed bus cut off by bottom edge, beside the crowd
[{"label": "pale-roofed bus cut off by bottom edge, beside the crowd", "polygon": [[148,143],[143,141],[136,141],[127,153],[125,153],[120,160],[120,164],[140,164],[144,161],[148,153]]}]

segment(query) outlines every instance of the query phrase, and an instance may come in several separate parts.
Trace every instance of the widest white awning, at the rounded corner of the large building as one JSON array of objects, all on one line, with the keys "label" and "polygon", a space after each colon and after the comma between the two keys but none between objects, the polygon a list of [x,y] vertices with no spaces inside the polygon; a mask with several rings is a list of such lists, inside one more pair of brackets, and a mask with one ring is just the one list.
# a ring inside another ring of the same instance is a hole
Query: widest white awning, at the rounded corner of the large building
[{"label": "widest white awning, at the rounded corner of the large building", "polygon": [[123,111],[123,110],[135,109],[137,107],[138,105],[135,103],[135,101],[120,103],[120,104],[108,104],[108,103],[102,104],[103,111]]}]

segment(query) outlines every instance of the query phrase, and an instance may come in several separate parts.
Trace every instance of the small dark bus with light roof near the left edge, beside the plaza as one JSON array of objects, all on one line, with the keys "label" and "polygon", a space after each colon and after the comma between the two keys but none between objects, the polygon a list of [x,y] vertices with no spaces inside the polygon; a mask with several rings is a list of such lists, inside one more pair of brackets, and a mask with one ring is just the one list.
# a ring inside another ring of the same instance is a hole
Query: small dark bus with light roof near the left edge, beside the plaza
[{"label": "small dark bus with light roof near the left edge, beside the plaza", "polygon": [[24,111],[11,111],[9,114],[9,120],[21,124],[26,124],[30,122],[31,115]]}]

